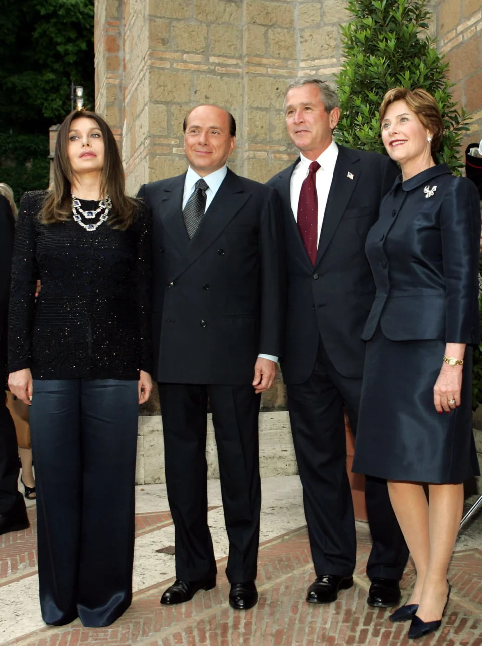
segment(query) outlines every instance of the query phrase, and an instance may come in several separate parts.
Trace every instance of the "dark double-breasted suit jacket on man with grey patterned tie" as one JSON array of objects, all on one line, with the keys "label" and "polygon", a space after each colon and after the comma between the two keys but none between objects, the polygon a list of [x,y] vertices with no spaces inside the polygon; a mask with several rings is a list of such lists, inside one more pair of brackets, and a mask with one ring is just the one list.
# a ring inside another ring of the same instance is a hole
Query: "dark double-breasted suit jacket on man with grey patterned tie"
[{"label": "dark double-breasted suit jacket on man with grey patterned tie", "polygon": [[185,174],[144,185],[152,210],[154,378],[250,384],[281,354],[285,270],[274,191],[228,170],[190,240]]}]

